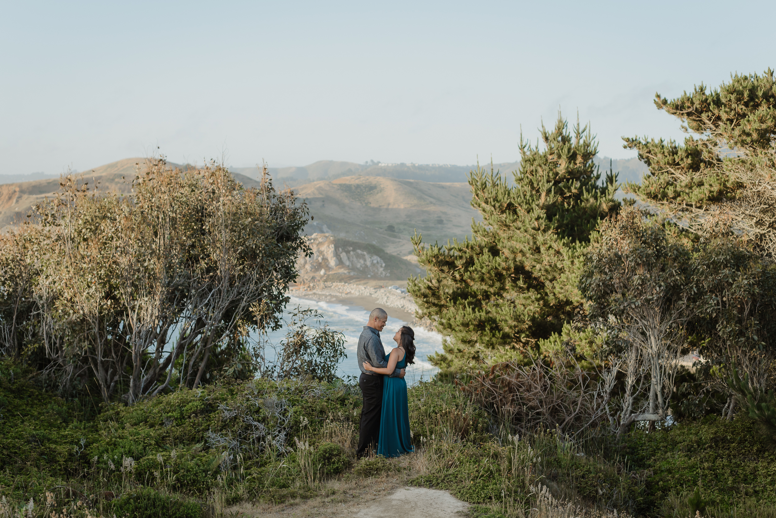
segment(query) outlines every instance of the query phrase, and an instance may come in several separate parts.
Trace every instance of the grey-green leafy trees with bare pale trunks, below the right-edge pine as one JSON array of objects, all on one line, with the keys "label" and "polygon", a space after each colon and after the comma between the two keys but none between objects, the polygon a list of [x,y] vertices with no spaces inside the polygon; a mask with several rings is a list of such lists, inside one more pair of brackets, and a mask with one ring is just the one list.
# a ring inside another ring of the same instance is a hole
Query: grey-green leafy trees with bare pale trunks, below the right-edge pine
[{"label": "grey-green leafy trees with bare pale trunks, below the right-edge pine", "polygon": [[[635,420],[665,419],[677,396],[677,416],[720,410],[722,398],[723,413],[732,418],[734,391],[727,380],[736,366],[747,373],[747,390],[772,388],[776,324],[765,315],[776,309],[776,270],[746,240],[688,234],[627,209],[601,223],[580,277],[591,325],[606,337],[608,361],[625,375],[623,409]],[[702,357],[696,382],[677,383],[679,357],[691,348]],[[646,385],[639,381],[644,375]],[[648,409],[629,389],[637,385],[650,388]],[[628,423],[625,414],[618,420]]]}]

